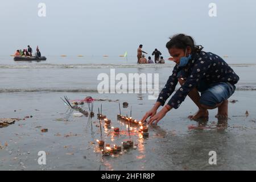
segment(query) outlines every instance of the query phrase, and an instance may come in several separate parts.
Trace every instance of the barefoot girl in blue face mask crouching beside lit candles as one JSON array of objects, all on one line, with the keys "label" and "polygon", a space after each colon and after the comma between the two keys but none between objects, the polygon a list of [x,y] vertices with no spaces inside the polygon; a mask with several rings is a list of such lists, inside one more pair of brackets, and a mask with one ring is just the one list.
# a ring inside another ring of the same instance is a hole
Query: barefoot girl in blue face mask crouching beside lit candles
[{"label": "barefoot girl in blue face mask crouching beside lit candles", "polygon": [[[170,39],[166,48],[176,65],[155,105],[147,111],[142,121],[150,117],[148,123],[157,124],[172,108],[177,109],[187,95],[198,107],[197,113],[190,115],[190,119],[208,118],[208,109],[215,108],[218,108],[215,117],[228,118],[228,98],[236,90],[235,84],[240,78],[220,56],[202,51],[202,46],[195,46],[191,36],[177,34]],[[180,88],[168,104],[156,113],[174,92],[177,82]]]}]

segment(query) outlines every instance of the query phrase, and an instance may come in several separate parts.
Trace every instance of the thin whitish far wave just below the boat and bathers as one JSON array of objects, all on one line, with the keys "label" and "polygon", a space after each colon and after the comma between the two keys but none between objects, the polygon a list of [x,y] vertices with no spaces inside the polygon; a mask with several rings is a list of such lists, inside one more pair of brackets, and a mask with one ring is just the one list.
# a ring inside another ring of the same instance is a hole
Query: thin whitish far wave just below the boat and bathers
[{"label": "thin whitish far wave just below the boat and bathers", "polygon": [[[229,64],[233,67],[251,67],[256,64]],[[0,69],[43,69],[43,68],[172,68],[174,64],[0,64]]]}]

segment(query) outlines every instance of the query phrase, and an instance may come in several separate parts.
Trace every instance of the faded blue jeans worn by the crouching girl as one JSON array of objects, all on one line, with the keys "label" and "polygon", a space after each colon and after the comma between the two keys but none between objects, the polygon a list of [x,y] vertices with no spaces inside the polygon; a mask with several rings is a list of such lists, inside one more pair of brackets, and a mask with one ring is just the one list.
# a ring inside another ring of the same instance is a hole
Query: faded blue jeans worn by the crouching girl
[{"label": "faded blue jeans worn by the crouching girl", "polygon": [[[177,74],[177,77],[184,78],[184,72],[180,71]],[[234,91],[236,86],[230,84],[229,82],[217,82],[214,84],[207,84],[203,80],[199,81],[199,84],[196,86],[197,90],[201,92],[200,104],[207,105],[209,107],[214,107],[222,101],[227,100]]]}]

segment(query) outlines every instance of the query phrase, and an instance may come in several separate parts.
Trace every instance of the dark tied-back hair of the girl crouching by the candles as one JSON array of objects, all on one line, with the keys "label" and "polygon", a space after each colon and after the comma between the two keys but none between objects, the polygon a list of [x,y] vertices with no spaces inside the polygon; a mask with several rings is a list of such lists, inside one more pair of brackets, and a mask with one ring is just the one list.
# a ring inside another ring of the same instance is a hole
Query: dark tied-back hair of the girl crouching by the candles
[{"label": "dark tied-back hair of the girl crouching by the candles", "polygon": [[178,49],[185,49],[187,47],[191,47],[191,53],[199,53],[204,47],[199,45],[196,46],[193,38],[189,35],[185,34],[176,34],[170,38],[170,41],[166,43],[166,48],[178,48]]}]

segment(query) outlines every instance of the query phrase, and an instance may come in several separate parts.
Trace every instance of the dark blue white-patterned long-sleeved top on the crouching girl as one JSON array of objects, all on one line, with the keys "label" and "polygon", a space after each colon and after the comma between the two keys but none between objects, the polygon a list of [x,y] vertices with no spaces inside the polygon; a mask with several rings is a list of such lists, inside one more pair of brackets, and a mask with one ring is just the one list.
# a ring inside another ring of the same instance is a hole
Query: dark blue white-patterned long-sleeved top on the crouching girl
[{"label": "dark blue white-patterned long-sleeved top on the crouching girl", "polygon": [[233,69],[230,68],[220,56],[211,52],[200,51],[200,53],[192,55],[185,67],[179,67],[177,64],[175,65],[172,75],[168,78],[166,85],[162,89],[162,92],[160,92],[157,100],[162,106],[174,92],[178,82],[177,74],[181,70],[183,70],[186,75],[186,81],[168,102],[168,105],[175,109],[180,106],[190,90],[195,88],[200,81],[204,81],[209,85],[216,82],[229,82],[234,85],[239,80],[239,77],[234,73]]}]

